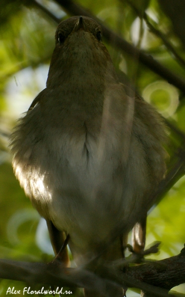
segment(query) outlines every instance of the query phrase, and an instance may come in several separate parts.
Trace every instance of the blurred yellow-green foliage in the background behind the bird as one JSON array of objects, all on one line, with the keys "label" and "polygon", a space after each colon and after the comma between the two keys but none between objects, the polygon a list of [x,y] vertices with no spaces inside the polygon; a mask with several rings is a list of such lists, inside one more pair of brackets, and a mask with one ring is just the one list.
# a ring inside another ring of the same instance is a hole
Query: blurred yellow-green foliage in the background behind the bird
[{"label": "blurred yellow-green foliage in the background behind the bird", "polygon": [[[13,175],[7,138],[15,120],[45,87],[57,27],[45,10],[58,17],[70,16],[52,0],[40,3],[44,9],[31,0],[0,2],[0,257],[27,261],[49,261],[53,256],[46,226],[41,224]],[[75,3],[90,10],[126,41],[152,55],[175,74],[185,77],[184,0],[75,0]],[[148,27],[146,17],[156,30]],[[123,71],[144,99],[185,133],[185,94],[124,51],[114,48],[114,44],[106,46],[117,70]],[[178,148],[185,146],[185,138],[179,139],[170,132],[169,136],[167,150],[173,156]],[[185,243],[184,225],[185,178],[182,177],[149,213],[147,245],[162,242],[160,253],[149,258],[161,259],[179,253]],[[2,280],[0,296],[6,295],[8,287],[22,292],[25,284]],[[176,290],[185,292],[185,287]],[[80,295],[81,291],[75,294]],[[136,293],[128,292],[127,296]]]}]

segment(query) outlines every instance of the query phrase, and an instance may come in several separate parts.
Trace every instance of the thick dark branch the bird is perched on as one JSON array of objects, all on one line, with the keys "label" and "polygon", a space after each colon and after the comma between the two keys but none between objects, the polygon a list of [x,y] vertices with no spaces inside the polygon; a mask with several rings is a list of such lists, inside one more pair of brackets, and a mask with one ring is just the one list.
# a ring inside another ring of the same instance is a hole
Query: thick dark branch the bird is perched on
[{"label": "thick dark branch the bird is perched on", "polygon": [[85,287],[101,292],[109,288],[110,297],[120,286],[138,288],[152,294],[152,297],[167,297],[170,289],[185,283],[185,247],[177,256],[126,269],[124,267],[125,272],[115,267],[117,265],[102,265],[94,274],[83,268],[63,268],[55,261],[45,264],[0,259],[0,278],[23,281],[29,285]]}]

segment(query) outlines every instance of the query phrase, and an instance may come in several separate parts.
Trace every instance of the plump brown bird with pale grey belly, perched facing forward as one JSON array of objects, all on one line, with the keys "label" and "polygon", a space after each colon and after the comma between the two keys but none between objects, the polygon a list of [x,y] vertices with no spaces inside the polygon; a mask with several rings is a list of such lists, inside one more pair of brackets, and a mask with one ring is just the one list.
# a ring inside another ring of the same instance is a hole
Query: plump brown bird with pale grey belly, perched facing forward
[{"label": "plump brown bird with pale grey belly, perched facing forward", "polygon": [[[133,249],[144,248],[146,205],[166,172],[165,125],[126,92],[95,20],[63,20],[55,41],[46,88],[10,136],[12,166],[65,267],[67,244],[79,267],[96,256],[114,263],[132,228]],[[85,296],[105,296],[94,292]]]}]

